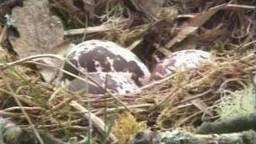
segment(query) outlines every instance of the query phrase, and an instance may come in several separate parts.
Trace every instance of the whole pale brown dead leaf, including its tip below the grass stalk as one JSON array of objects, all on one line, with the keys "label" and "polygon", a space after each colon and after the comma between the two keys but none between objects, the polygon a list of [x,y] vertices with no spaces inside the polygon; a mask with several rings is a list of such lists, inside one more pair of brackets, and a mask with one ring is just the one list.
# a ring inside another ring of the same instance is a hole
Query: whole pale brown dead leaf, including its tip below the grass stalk
[{"label": "whole pale brown dead leaf, including its tip below the grass stalk", "polygon": [[[65,56],[65,52],[72,47],[63,41],[63,25],[61,20],[50,15],[47,0],[26,0],[23,7],[16,7],[12,11],[14,26],[20,37],[11,40],[14,51],[20,57],[37,54],[57,54]],[[38,58],[45,66],[36,65],[46,82],[52,82],[58,74],[62,61],[56,58]],[[48,65],[48,66],[47,66]],[[51,66],[51,67],[49,67]]]}]

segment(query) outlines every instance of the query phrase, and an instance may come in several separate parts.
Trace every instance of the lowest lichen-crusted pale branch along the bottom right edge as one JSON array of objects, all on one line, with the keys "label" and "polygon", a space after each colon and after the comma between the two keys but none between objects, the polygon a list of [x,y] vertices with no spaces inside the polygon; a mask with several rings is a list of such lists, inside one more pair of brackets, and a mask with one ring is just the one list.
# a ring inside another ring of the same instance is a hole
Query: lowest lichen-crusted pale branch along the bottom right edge
[{"label": "lowest lichen-crusted pale branch along the bottom right edge", "polygon": [[[148,132],[139,132],[132,140],[132,144],[139,143],[161,143],[161,144],[178,144],[178,143],[186,143],[186,144],[194,144],[194,143],[218,143],[218,144],[231,144],[231,143],[247,143],[254,144],[256,138],[255,131],[243,131],[238,133],[231,134],[211,134],[211,135],[199,135],[193,134],[186,131],[174,130],[174,131],[164,131],[159,132],[157,135],[147,134]],[[138,136],[140,135],[140,136]]]}]

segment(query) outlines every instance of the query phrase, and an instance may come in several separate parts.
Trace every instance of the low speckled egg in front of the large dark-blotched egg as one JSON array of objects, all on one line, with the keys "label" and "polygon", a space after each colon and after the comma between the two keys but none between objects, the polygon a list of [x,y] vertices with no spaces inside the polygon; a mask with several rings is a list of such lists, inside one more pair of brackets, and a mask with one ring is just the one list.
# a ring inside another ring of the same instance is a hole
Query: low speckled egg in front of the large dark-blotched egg
[{"label": "low speckled egg in front of the large dark-blotched egg", "polygon": [[[87,73],[88,77],[97,81],[102,88],[97,84],[82,79],[75,78],[70,84],[68,89],[72,92],[86,91],[91,94],[105,94],[108,89],[111,94],[124,95],[131,93],[138,93],[140,89],[132,79],[132,74],[127,72],[94,72]],[[104,89],[103,89],[104,88]]]}]

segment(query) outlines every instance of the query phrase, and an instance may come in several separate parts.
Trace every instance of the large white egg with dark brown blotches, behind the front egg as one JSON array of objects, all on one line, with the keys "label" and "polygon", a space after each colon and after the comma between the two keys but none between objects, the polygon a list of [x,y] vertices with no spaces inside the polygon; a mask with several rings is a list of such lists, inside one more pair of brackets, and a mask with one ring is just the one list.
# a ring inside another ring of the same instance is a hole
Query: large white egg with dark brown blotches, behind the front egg
[{"label": "large white egg with dark brown blotches, behind the front egg", "polygon": [[[67,60],[83,73],[130,72],[136,84],[141,86],[150,82],[151,73],[144,63],[130,50],[111,41],[84,41],[68,52]],[[64,70],[77,75],[80,73],[68,63],[65,64]],[[63,78],[65,77],[72,79],[64,74]]]}]

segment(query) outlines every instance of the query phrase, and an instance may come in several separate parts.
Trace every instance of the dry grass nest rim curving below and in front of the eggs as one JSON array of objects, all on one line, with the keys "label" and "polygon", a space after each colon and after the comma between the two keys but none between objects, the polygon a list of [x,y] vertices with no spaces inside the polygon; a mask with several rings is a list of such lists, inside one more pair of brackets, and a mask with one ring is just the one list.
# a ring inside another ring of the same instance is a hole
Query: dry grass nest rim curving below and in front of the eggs
[{"label": "dry grass nest rim curving below and in front of the eggs", "polygon": [[254,58],[253,51],[217,57],[196,70],[177,72],[152,82],[142,87],[140,94],[117,98],[72,93],[65,87],[43,82],[40,74],[31,68],[15,65],[1,71],[0,114],[22,127],[34,125],[56,137],[78,140],[89,129],[90,122],[85,119],[88,113],[109,127],[118,122],[118,115],[124,111],[158,129],[196,126],[204,119],[216,119],[216,100],[224,89],[242,89],[241,83],[248,84],[254,71]]}]

